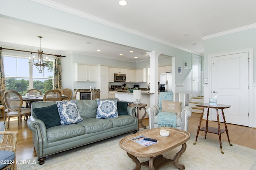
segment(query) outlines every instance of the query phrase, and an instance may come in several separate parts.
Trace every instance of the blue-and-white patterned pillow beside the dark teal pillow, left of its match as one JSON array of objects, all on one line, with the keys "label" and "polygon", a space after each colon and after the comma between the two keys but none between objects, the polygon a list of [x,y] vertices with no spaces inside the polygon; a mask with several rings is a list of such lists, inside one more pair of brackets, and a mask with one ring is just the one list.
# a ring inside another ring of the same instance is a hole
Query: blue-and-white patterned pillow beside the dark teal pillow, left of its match
[{"label": "blue-and-white patterned pillow beside the dark teal pillow, left of its match", "polygon": [[76,101],[56,101],[60,114],[60,125],[69,125],[82,121],[76,106]]}]

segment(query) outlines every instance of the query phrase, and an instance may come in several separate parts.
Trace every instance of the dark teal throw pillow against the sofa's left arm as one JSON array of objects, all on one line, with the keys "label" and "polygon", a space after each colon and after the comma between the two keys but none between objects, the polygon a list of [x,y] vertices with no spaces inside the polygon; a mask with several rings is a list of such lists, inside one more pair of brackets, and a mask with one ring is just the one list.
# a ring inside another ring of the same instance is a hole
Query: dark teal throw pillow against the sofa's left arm
[{"label": "dark teal throw pillow against the sofa's left arm", "polygon": [[60,125],[60,115],[56,104],[33,109],[38,119],[42,120],[46,129]]}]

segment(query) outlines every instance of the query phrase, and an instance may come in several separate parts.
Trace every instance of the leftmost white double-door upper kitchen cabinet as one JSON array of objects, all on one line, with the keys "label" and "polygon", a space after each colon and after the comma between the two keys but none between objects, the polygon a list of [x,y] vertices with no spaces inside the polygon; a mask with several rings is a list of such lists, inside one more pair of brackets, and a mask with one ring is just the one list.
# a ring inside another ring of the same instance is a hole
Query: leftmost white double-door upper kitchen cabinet
[{"label": "leftmost white double-door upper kitchen cabinet", "polygon": [[74,63],[76,82],[97,82],[97,66]]}]

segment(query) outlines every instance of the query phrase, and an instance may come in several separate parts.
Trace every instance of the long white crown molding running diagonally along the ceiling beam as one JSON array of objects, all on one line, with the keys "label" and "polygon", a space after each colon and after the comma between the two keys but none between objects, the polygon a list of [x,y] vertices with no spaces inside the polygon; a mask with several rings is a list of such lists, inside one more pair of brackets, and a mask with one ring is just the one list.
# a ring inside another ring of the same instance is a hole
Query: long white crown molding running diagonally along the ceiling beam
[{"label": "long white crown molding running diagonally along the ceiling beam", "polygon": [[36,2],[38,4],[42,4],[44,6],[48,6],[50,8],[54,8],[56,10],[60,10],[62,12],[66,12],[66,13],[69,13],[69,14],[72,14],[72,15],[75,15],[75,16],[79,16],[81,18],[85,18],[87,20],[91,20],[91,21],[94,21],[94,22],[97,22],[97,23],[101,23],[103,25],[107,25],[109,27],[112,27],[112,28],[115,28],[115,29],[119,29],[119,30],[122,30],[122,31],[125,31],[125,32],[128,32],[128,33],[131,33],[131,34],[134,34],[134,35],[138,35],[140,37],[143,37],[143,38],[146,38],[146,39],[149,39],[149,40],[152,40],[152,41],[155,41],[155,42],[158,42],[158,43],[161,43],[161,44],[164,44],[164,45],[168,45],[170,47],[174,47],[176,49],[180,49],[182,51],[186,51],[188,53],[192,53],[192,54],[195,54],[195,55],[200,55],[202,56],[203,54],[202,53],[196,53],[194,51],[191,51],[191,50],[188,50],[188,49],[185,49],[183,47],[180,47],[180,46],[177,46],[177,45],[174,45],[172,43],[169,43],[169,42],[166,42],[166,41],[163,41],[161,39],[158,39],[156,37],[152,37],[150,35],[147,35],[147,34],[144,34],[144,33],[141,33],[141,32],[138,32],[138,31],[135,31],[133,29],[129,29],[127,27],[124,27],[122,25],[118,25],[116,23],[113,23],[113,22],[110,22],[110,21],[107,21],[107,20],[103,20],[102,18],[98,18],[96,16],[92,16],[90,14],[87,14],[87,13],[84,13],[84,12],[81,12],[79,10],[76,10],[74,8],[70,8],[68,6],[64,6],[62,4],[58,4],[56,2],[53,2],[51,0],[30,0],[32,2]]}]

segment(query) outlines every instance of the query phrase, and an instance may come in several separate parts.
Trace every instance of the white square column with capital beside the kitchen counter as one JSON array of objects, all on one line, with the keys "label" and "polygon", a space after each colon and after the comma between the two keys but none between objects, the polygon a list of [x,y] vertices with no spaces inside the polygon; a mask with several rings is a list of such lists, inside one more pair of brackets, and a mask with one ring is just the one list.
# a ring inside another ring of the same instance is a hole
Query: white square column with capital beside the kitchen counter
[{"label": "white square column with capital beside the kitchen counter", "polygon": [[150,57],[150,106],[158,104],[158,57],[160,51],[147,52]]}]

